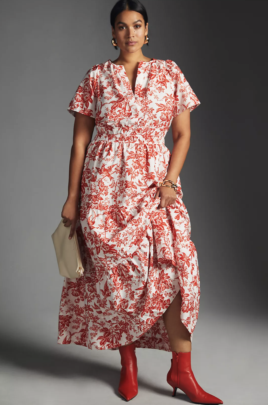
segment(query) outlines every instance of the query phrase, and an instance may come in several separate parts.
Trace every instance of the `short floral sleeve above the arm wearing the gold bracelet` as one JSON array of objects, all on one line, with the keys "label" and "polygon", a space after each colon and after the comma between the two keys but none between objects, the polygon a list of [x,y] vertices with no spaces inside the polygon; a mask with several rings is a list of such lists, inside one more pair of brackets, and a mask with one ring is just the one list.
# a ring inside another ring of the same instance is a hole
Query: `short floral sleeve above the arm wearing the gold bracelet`
[{"label": "short floral sleeve above the arm wearing the gold bracelet", "polygon": [[173,117],[176,117],[188,108],[190,109],[190,111],[193,111],[196,107],[198,107],[200,101],[187,82],[185,76],[183,75],[183,72],[181,71],[179,66],[172,60],[167,60],[166,66],[172,77],[174,87]]}]

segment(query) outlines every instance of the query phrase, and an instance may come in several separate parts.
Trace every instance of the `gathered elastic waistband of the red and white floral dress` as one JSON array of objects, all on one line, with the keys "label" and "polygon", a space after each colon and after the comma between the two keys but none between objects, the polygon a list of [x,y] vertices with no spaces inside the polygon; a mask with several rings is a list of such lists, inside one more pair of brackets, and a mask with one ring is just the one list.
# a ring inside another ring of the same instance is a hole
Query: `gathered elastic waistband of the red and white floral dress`
[{"label": "gathered elastic waistband of the red and white floral dress", "polygon": [[143,128],[101,128],[97,127],[97,134],[94,137],[94,142],[106,141],[106,142],[149,142],[157,143],[160,145],[165,144],[166,131],[163,129],[157,130],[154,127]]}]

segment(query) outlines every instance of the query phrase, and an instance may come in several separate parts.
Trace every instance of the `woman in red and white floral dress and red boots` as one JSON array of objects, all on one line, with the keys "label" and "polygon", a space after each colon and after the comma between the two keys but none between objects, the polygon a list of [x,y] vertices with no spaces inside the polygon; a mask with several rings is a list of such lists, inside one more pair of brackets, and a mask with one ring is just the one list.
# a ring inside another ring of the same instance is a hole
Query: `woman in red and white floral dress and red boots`
[{"label": "woman in red and white floral dress and red boots", "polygon": [[115,4],[119,57],[90,68],[68,107],[75,120],[62,217],[70,238],[77,230],[86,271],[64,279],[58,343],[119,349],[127,401],[138,393],[136,347],[171,351],[172,395],[180,388],[196,403],[222,404],[190,362],[200,283],[179,173],[200,101],[175,62],[143,55],[147,21],[139,1]]}]

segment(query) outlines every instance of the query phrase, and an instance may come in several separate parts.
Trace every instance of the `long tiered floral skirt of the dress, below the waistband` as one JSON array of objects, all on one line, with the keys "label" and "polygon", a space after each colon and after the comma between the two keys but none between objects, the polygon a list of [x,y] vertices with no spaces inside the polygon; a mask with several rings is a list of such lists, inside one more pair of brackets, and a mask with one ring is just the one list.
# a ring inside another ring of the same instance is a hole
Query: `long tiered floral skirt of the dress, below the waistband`
[{"label": "long tiered floral skirt of the dress, below the waistband", "polygon": [[170,352],[162,315],[178,293],[192,340],[200,280],[180,178],[174,204],[154,198],[170,156],[155,137],[102,133],[89,145],[76,226],[85,277],[64,278],[57,343]]}]

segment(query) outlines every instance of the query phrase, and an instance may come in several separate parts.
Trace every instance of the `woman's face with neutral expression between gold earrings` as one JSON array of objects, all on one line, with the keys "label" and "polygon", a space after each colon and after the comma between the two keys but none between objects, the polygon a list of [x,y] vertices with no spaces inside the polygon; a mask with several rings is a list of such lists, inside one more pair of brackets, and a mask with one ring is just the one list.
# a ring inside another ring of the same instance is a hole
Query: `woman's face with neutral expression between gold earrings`
[{"label": "woman's face with neutral expression between gold earrings", "polygon": [[147,33],[148,23],[145,26],[143,16],[136,11],[122,11],[115,19],[115,30],[112,27],[117,46],[124,52],[132,53],[140,49]]}]

